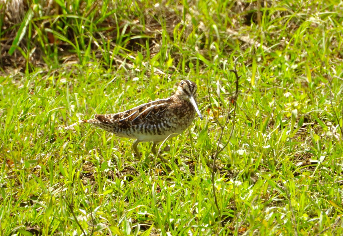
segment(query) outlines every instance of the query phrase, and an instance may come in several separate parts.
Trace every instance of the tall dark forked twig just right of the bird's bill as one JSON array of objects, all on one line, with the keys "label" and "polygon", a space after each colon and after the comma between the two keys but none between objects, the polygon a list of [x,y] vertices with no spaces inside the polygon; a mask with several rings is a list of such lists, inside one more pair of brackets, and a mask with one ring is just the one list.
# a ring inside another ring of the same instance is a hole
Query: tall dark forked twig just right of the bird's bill
[{"label": "tall dark forked twig just right of the bird's bill", "polygon": [[[216,151],[215,151],[215,154],[214,154],[214,157],[213,157],[213,166],[212,166],[212,188],[213,188],[214,203],[215,203],[216,208],[218,210],[219,221],[221,222],[223,227],[225,225],[224,225],[224,222],[222,221],[222,214],[221,214],[221,210],[220,210],[220,207],[219,207],[219,204],[218,204],[218,199],[217,199],[217,194],[216,194],[216,191],[215,191],[215,184],[214,184],[215,162],[217,160],[218,154],[220,154],[225,149],[225,147],[228,145],[228,143],[230,142],[230,139],[232,137],[232,134],[233,134],[233,131],[234,131],[234,128],[235,128],[235,115],[236,115],[238,87],[239,87],[239,78],[240,78],[240,76],[238,76],[238,74],[237,74],[236,65],[237,65],[237,59],[235,61],[235,69],[234,70],[229,70],[230,72],[233,72],[236,75],[236,94],[235,94],[235,97],[234,97],[234,111],[233,111],[233,116],[232,116],[232,119],[233,119],[233,121],[232,121],[232,129],[231,129],[231,132],[230,132],[230,136],[229,136],[227,142],[225,143],[224,147],[219,150],[219,145],[220,145],[220,143],[222,141],[224,130],[225,130],[224,127],[227,125],[227,123],[229,121],[229,118],[230,118],[230,113],[228,113],[227,117],[226,117],[226,120],[225,120],[225,123],[224,123],[223,126],[218,122],[218,124],[221,127],[221,133],[220,133],[218,141],[217,141],[217,147],[216,147]],[[209,88],[209,85],[208,85],[208,88]],[[209,94],[209,97],[210,97],[210,94]],[[211,109],[212,109],[211,100],[209,99],[209,101],[210,101],[210,106],[211,106]],[[215,119],[216,119],[216,121],[218,121],[216,117],[215,117]]]}]

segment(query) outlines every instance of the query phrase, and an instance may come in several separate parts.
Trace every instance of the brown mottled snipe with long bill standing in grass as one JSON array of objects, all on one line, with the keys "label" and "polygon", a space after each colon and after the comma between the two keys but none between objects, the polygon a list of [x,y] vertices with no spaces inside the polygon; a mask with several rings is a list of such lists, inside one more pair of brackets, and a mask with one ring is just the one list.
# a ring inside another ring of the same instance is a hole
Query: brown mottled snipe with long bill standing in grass
[{"label": "brown mottled snipe with long bill standing in grass", "polygon": [[[156,155],[156,144],[176,137],[193,122],[195,115],[202,115],[197,103],[197,84],[181,80],[174,95],[164,99],[133,107],[120,113],[98,115],[93,119],[80,120],[114,133],[118,137],[136,139],[132,149],[140,159],[137,149],[140,142],[153,142],[152,153]],[[168,161],[159,153],[162,162]]]}]

